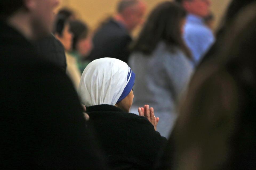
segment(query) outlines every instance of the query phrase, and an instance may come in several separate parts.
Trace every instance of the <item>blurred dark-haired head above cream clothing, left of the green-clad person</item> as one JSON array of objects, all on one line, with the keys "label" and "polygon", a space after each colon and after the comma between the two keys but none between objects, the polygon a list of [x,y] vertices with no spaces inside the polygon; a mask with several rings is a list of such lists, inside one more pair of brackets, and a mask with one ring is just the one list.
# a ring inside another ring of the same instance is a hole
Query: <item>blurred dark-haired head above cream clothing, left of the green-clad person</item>
[{"label": "blurred dark-haired head above cream clothing, left of the green-clad person", "polygon": [[57,16],[55,21],[54,35],[62,43],[66,51],[70,51],[72,49],[73,35],[70,32],[69,20],[65,16]]}]

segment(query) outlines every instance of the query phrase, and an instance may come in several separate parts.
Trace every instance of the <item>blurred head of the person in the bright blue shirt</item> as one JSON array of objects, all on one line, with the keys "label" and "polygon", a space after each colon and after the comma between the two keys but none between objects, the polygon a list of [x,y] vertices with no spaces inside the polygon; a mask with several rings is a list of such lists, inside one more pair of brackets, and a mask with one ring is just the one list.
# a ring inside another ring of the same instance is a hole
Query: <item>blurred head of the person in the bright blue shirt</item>
[{"label": "blurred head of the person in the bright blue shirt", "polygon": [[180,2],[187,12],[206,17],[210,13],[211,0],[176,0]]}]

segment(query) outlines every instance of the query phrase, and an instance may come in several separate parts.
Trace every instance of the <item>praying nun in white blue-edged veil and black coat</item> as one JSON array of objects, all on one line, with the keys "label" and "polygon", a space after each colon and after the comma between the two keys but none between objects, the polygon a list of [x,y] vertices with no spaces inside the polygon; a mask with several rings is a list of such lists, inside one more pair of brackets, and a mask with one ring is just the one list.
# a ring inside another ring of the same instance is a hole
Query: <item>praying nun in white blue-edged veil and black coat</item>
[{"label": "praying nun in white blue-edged veil and black coat", "polygon": [[155,130],[156,124],[143,115],[150,112],[152,119],[153,108],[139,108],[141,116],[129,113],[134,81],[135,74],[125,62],[101,58],[85,68],[79,84],[89,126],[95,130],[111,169],[152,169],[166,143]]}]

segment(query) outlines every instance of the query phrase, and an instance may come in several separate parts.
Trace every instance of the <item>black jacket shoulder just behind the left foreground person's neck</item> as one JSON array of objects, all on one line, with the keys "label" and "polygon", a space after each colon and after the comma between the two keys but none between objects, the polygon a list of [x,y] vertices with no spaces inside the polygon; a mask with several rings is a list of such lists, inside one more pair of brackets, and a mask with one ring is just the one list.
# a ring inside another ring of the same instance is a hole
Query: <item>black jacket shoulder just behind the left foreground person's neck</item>
[{"label": "black jacket shoulder just behind the left foreground person's neck", "polygon": [[63,45],[59,40],[57,40],[54,35],[49,35],[41,40],[35,42],[35,47],[38,53],[46,57],[47,60],[54,63],[66,72],[67,63],[65,50]]}]

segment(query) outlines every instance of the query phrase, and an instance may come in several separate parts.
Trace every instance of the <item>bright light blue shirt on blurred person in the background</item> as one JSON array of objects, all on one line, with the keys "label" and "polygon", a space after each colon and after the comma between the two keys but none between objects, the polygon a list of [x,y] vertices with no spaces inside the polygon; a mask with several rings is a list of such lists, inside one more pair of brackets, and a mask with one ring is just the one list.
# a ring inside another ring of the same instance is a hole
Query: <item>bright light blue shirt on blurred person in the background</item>
[{"label": "bright light blue shirt on blurred person in the background", "polygon": [[184,27],[184,40],[191,50],[194,66],[196,66],[214,43],[215,38],[201,17],[189,14]]}]

